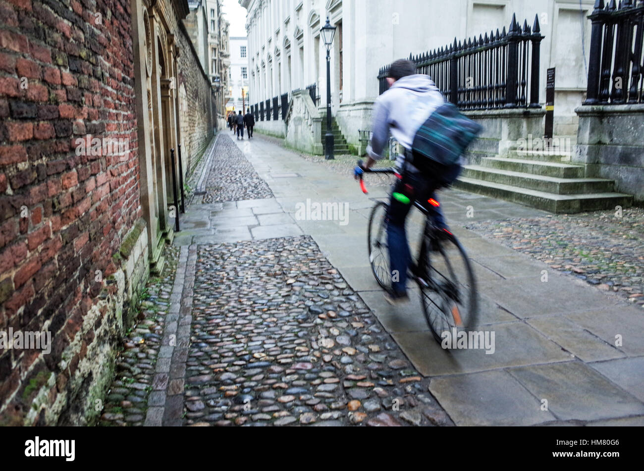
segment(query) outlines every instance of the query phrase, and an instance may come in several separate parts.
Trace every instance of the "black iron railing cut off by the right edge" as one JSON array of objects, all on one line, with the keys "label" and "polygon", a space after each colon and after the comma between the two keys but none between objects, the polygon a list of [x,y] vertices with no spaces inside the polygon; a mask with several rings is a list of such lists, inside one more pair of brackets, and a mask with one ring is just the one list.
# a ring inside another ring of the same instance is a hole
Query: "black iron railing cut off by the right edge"
[{"label": "black iron railing cut off by the right edge", "polygon": [[644,103],[644,0],[597,0],[584,105]]}]

